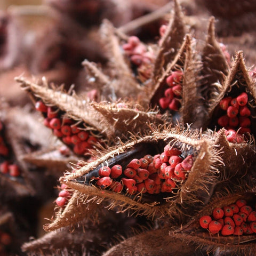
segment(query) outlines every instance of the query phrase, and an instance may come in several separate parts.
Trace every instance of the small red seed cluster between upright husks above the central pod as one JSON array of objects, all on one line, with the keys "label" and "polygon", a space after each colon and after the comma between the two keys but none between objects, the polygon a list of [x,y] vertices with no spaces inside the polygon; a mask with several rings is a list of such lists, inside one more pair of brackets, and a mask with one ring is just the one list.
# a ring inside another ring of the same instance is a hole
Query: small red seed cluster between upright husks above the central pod
[{"label": "small red seed cluster between upright husks above the central pod", "polygon": [[159,99],[159,105],[162,109],[178,111],[180,108],[180,99],[182,94],[183,73],[180,70],[173,71],[166,78],[167,89],[164,91],[164,97]]}]

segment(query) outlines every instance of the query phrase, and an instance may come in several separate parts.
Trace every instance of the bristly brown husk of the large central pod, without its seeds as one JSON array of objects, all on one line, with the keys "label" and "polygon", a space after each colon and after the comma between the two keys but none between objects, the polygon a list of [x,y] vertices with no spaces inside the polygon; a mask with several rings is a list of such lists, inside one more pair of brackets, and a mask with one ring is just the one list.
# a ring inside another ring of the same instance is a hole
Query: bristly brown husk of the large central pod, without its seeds
[{"label": "bristly brown husk of the large central pod, without its seeds", "polygon": [[[92,176],[97,177],[102,164],[107,164],[109,167],[115,164],[126,166],[134,157],[139,159],[147,154],[162,153],[164,146],[168,143],[195,156],[188,178],[178,185],[176,194],[165,193],[164,196],[135,194],[131,196],[122,191],[114,193],[107,189],[102,190],[86,180]],[[148,218],[169,216],[182,219],[184,216],[181,213],[188,210],[185,206],[191,206],[191,202],[193,205],[197,202],[195,207],[201,207],[199,206],[201,203],[208,201],[218,173],[217,167],[222,164],[219,154],[220,150],[214,145],[213,140],[202,138],[199,131],[186,131],[177,126],[175,129],[155,131],[152,135],[134,139],[102,155],[97,161],[81,167],[75,173],[67,173],[60,178],[60,181],[80,191],[87,196],[89,201],[90,199],[97,203],[108,201],[109,209],[119,206],[119,211],[130,210],[131,214],[145,215]]]}]

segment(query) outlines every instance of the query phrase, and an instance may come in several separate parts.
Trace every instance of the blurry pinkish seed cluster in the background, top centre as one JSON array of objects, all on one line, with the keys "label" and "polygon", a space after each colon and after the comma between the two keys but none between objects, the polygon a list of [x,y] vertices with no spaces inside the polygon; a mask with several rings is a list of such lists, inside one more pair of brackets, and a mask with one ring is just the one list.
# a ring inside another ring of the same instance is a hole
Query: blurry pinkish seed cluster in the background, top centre
[{"label": "blurry pinkish seed cluster in the background, top centre", "polygon": [[128,42],[123,44],[123,50],[136,66],[151,63],[155,58],[153,52],[147,51],[146,46],[140,42],[137,36],[129,37]]}]

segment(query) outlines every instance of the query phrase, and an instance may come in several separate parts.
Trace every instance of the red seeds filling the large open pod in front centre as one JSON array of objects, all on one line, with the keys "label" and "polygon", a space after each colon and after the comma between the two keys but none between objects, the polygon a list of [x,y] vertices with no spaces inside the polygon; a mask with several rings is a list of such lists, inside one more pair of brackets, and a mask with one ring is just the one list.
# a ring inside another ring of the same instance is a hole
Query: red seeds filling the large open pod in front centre
[{"label": "red seeds filling the large open pod in front centre", "polygon": [[186,180],[194,163],[193,155],[184,158],[181,154],[178,148],[167,145],[162,154],[134,158],[125,168],[103,166],[99,169],[96,186],[109,187],[116,193],[123,189],[129,194],[170,193],[178,182]]}]

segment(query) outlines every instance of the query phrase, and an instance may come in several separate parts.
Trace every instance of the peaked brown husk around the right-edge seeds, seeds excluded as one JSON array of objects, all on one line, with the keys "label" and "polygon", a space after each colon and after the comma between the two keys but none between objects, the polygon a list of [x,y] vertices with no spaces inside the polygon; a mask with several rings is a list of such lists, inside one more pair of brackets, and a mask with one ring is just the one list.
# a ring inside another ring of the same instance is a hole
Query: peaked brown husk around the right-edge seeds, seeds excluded
[{"label": "peaked brown husk around the right-edge seeds, seeds excluded", "polygon": [[203,124],[203,129],[206,127],[210,127],[214,130],[217,125],[217,120],[220,117],[220,101],[227,97],[236,97],[238,93],[246,92],[248,94],[249,107],[251,110],[251,131],[255,136],[255,121],[254,121],[254,113],[255,113],[255,99],[256,99],[256,90],[254,86],[254,82],[250,77],[247,68],[245,66],[243,60],[243,52],[237,52],[236,58],[233,62],[233,65],[226,77],[223,86],[219,85],[218,92],[216,91],[215,97],[212,95],[212,99],[210,101],[208,114],[205,116],[205,123]]}]

